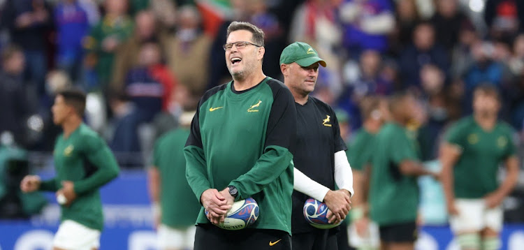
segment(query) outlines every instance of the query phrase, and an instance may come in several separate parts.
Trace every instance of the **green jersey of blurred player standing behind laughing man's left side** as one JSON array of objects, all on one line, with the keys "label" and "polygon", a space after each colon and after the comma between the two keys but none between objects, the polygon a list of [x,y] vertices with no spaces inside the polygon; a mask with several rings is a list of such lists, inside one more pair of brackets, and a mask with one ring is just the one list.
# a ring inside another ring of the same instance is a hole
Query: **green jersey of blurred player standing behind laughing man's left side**
[{"label": "green jersey of blurred player standing behind laughing man's left side", "polygon": [[177,128],[162,135],[154,145],[153,166],[161,177],[161,222],[172,228],[193,225],[201,207],[186,179],[184,145],[188,136],[189,128]]}]

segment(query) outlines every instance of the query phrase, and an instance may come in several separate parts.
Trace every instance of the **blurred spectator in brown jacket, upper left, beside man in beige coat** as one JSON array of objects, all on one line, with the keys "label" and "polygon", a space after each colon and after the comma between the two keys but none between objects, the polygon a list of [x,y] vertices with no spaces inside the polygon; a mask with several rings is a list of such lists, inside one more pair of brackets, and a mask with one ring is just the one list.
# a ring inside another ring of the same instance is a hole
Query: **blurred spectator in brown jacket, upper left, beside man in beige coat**
[{"label": "blurred spectator in brown jacket, upper left, beside man in beige coat", "polygon": [[[113,64],[113,73],[111,89],[120,91],[124,87],[124,78],[127,72],[138,66],[138,54],[140,47],[144,43],[159,42],[163,45],[163,36],[158,29],[157,21],[151,10],[141,10],[135,16],[135,30],[133,36],[119,45],[115,53],[115,64]],[[161,46],[163,48],[163,46]]]}]

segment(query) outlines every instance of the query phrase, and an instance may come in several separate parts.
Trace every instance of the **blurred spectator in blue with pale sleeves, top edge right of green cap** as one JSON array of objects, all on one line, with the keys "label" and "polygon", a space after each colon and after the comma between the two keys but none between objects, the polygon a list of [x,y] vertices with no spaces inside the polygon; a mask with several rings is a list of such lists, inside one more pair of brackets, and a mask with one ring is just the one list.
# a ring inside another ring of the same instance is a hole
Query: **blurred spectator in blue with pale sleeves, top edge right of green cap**
[{"label": "blurred spectator in blue with pale sleeves, top edge right of green cap", "polygon": [[344,26],[344,47],[351,57],[358,57],[363,50],[385,52],[387,35],[393,31],[395,18],[389,0],[345,0],[340,7]]}]

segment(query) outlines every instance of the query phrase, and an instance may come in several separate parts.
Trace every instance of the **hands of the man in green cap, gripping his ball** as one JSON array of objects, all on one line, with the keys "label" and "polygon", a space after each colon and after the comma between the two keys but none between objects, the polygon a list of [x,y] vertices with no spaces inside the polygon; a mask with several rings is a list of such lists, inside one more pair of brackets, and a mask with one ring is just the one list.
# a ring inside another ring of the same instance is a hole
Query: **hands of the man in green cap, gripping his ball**
[{"label": "hands of the man in green cap, gripping his ball", "polygon": [[347,213],[351,209],[349,191],[344,189],[328,191],[323,202],[329,208],[327,214],[329,223],[340,223],[340,221],[346,219]]}]

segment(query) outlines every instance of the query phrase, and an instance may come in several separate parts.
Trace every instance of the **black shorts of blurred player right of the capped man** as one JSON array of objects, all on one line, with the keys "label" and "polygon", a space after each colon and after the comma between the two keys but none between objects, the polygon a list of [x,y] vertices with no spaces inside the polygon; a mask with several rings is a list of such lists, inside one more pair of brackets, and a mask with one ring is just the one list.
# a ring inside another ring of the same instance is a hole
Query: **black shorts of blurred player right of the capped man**
[{"label": "black shorts of blurred player right of the capped man", "polygon": [[415,242],[418,236],[415,221],[380,226],[379,232],[383,242]]}]

